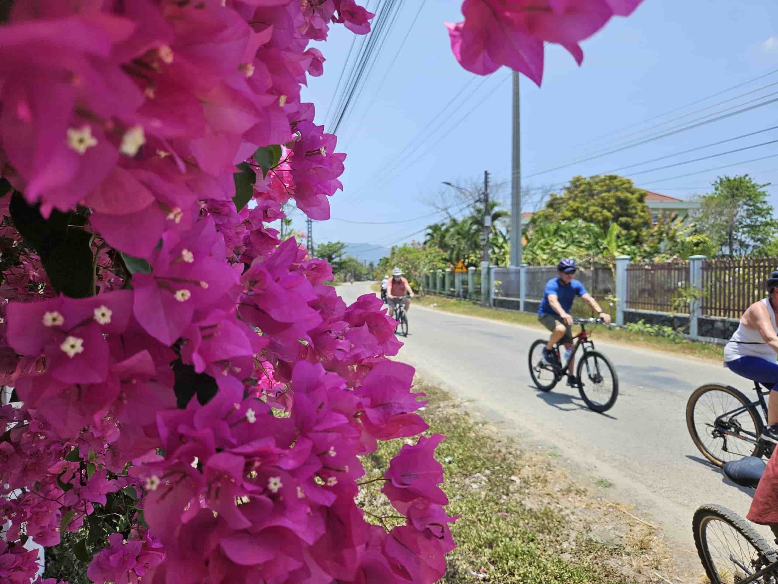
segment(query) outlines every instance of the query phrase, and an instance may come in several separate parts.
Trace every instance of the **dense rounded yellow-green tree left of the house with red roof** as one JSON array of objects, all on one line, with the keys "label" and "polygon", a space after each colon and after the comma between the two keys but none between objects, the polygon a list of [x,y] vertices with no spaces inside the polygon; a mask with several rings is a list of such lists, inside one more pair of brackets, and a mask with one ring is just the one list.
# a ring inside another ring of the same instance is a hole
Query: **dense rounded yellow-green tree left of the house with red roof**
[{"label": "dense rounded yellow-green tree left of the house with red roof", "polygon": [[531,225],[576,219],[594,223],[603,234],[616,223],[622,237],[635,243],[643,241],[651,223],[646,192],[615,174],[573,177],[562,195],[551,194],[545,208],[532,216]]}]

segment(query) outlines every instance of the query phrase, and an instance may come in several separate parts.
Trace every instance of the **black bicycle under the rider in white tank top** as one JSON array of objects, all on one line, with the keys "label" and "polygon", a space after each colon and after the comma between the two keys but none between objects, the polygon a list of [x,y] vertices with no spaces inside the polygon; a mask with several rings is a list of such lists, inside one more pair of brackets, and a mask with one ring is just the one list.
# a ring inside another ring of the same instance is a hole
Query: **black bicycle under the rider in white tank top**
[{"label": "black bicycle under the rider in white tank top", "polygon": [[731,385],[708,383],[689,396],[686,427],[699,452],[716,466],[744,456],[773,454],[773,444],[759,439],[765,429],[769,389],[754,382],[754,390],[756,399],[748,401]]}]

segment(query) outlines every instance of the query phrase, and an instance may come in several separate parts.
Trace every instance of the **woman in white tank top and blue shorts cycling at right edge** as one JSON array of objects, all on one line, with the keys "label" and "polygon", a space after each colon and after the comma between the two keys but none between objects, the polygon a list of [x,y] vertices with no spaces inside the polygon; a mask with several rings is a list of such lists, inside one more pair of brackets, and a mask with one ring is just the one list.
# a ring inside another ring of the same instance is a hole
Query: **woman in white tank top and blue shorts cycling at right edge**
[{"label": "woman in white tank top and blue shorts cycling at right edge", "polygon": [[767,427],[761,438],[778,444],[778,270],[767,280],[768,296],[743,313],[724,347],[724,367],[773,389],[767,400]]}]

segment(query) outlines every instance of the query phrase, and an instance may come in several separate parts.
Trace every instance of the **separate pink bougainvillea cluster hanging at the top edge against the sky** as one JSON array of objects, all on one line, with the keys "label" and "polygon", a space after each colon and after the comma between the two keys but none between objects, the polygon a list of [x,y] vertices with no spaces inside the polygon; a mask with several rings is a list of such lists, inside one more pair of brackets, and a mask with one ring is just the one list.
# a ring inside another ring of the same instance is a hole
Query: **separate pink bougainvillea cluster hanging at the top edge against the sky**
[{"label": "separate pink bougainvillea cluster hanging at the top edge against the sky", "polygon": [[556,43],[584,60],[579,43],[612,16],[629,16],[643,0],[464,0],[464,22],[446,23],[454,57],[468,71],[489,75],[506,65],[538,86],[543,47]]}]

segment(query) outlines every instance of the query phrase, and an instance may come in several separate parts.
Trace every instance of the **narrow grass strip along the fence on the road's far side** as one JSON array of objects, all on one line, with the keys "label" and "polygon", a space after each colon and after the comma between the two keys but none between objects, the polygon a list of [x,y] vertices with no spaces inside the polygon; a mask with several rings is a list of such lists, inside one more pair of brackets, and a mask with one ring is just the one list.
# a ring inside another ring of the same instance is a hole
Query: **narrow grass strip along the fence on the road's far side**
[{"label": "narrow grass strip along the fence on the road's far side", "polygon": [[[380,285],[379,285],[380,289]],[[489,318],[499,322],[510,322],[517,325],[531,326],[534,329],[545,332],[545,327],[538,322],[538,316],[531,312],[517,312],[499,310],[497,308],[483,308],[468,301],[458,301],[444,296],[426,295],[416,297],[415,304],[426,308],[453,312],[458,315],[477,316]],[[678,339],[667,336],[654,336],[644,334],[636,330],[605,328],[594,326],[587,329],[590,336],[597,342],[598,339],[612,343],[628,344],[630,347],[643,347],[646,349],[660,350],[665,353],[690,355],[710,361],[721,361],[724,358],[724,346],[715,343],[700,343],[689,339]]]}]

